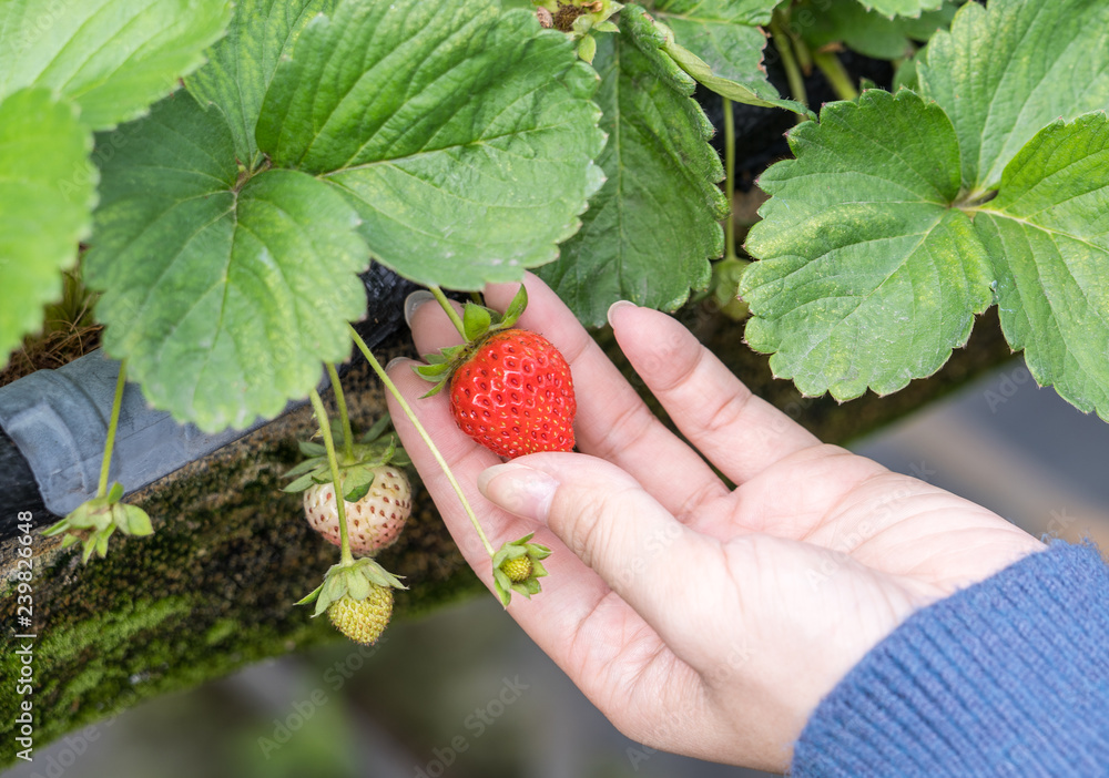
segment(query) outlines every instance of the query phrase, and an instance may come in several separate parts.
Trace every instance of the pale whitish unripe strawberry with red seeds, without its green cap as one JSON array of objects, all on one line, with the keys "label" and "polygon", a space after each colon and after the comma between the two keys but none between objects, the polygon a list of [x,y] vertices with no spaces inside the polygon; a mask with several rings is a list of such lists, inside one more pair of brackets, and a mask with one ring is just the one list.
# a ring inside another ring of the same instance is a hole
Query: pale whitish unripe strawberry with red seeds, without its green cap
[{"label": "pale whitish unripe strawberry with red seeds, without its green cap", "polygon": [[[405,472],[394,465],[370,468],[374,482],[355,502],[344,504],[350,551],[372,555],[393,545],[411,514],[411,484]],[[344,484],[346,479],[343,479]],[[335,487],[317,483],[304,492],[304,513],[308,523],[325,540],[339,545],[339,516],[335,510]]]}]

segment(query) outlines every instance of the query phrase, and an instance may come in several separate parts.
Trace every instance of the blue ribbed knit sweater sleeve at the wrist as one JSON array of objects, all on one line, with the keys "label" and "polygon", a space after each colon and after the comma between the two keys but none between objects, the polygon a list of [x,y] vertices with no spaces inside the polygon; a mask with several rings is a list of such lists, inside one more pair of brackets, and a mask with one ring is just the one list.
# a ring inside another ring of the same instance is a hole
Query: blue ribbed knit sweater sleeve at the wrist
[{"label": "blue ribbed knit sweater sleeve at the wrist", "polygon": [[1109,776],[1109,569],[1057,542],[905,621],[825,697],[792,775]]}]

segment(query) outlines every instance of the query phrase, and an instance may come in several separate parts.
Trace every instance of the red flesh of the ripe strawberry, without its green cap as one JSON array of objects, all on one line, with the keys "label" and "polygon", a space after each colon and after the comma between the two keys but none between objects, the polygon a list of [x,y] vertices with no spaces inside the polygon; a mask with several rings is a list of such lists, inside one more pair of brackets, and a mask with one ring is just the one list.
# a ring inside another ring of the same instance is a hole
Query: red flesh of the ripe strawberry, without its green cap
[{"label": "red flesh of the ripe strawberry, without its green cap", "polygon": [[494,332],[450,379],[450,412],[466,434],[501,457],[573,449],[570,366],[541,335]]}]

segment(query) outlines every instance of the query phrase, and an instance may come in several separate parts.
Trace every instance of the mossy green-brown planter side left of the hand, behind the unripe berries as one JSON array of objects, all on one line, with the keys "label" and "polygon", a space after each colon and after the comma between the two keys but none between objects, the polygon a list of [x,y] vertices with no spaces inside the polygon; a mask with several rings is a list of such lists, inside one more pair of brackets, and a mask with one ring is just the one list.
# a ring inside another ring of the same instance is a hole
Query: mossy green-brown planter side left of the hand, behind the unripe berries
[{"label": "mossy green-brown planter side left of the hand, behind the unripe berries", "polygon": [[[368,426],[384,398],[364,373],[345,383],[352,413]],[[314,431],[308,410],[297,411],[129,498],[154,516],[155,534],[113,538],[106,559],[81,565],[78,552],[37,540],[37,745],[149,697],[342,639],[326,620],[295,606],[338,561],[338,550],[307,526],[301,500],[281,491],[282,473],[299,457],[296,440]],[[480,588],[434,506],[418,497],[401,541],[380,557],[410,586],[398,593],[397,618]],[[14,607],[13,597],[0,601],[0,623],[14,623]],[[18,670],[8,652],[0,659],[0,762],[18,749]]]}]

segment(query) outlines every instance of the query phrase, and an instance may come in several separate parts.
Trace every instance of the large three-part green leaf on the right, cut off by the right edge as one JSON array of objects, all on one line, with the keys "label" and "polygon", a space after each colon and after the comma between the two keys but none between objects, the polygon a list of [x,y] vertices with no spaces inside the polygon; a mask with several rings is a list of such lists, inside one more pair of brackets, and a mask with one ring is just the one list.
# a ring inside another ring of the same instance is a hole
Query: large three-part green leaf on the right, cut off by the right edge
[{"label": "large three-part green leaf on the right, cut off by the right edge", "polygon": [[902,78],[929,102],[871,91],[798,127],[797,160],[763,176],[775,196],[747,246],[764,262],[741,284],[776,373],[840,399],[895,390],[965,341],[988,285],[1034,375],[1105,414],[1100,130],[1037,133],[1109,104],[1107,27],[1095,0],[968,3]]}]

